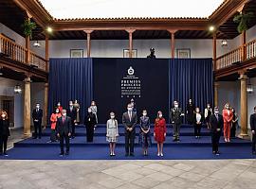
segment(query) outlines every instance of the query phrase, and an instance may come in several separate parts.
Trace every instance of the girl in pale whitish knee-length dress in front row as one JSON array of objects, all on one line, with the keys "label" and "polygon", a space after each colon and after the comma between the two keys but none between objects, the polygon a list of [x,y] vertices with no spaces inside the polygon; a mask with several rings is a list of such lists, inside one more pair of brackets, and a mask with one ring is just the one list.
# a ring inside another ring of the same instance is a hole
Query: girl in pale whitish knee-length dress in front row
[{"label": "girl in pale whitish knee-length dress in front row", "polygon": [[109,142],[110,156],[115,156],[115,147],[119,136],[119,124],[115,113],[110,112],[110,119],[106,124],[106,140]]}]

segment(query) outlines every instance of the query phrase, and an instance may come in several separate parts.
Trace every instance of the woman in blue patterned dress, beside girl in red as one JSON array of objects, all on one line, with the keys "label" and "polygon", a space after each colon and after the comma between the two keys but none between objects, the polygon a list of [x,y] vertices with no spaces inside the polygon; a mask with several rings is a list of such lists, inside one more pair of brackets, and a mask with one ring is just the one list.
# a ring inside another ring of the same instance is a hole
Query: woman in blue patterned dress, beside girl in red
[{"label": "woman in blue patterned dress, beside girl in red", "polygon": [[147,111],[142,112],[139,119],[140,131],[138,143],[143,148],[143,155],[148,155],[148,147],[151,146],[150,118],[147,116]]}]

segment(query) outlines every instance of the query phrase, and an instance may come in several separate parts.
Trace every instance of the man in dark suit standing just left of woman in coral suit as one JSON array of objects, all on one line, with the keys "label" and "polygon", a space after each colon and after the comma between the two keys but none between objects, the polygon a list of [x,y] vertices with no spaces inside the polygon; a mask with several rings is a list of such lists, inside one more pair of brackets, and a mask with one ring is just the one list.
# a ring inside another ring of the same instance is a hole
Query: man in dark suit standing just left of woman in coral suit
[{"label": "man in dark suit standing just left of woman in coral suit", "polygon": [[212,153],[215,155],[220,155],[219,142],[223,125],[223,116],[219,113],[218,107],[215,107],[214,113],[210,115],[211,146]]}]

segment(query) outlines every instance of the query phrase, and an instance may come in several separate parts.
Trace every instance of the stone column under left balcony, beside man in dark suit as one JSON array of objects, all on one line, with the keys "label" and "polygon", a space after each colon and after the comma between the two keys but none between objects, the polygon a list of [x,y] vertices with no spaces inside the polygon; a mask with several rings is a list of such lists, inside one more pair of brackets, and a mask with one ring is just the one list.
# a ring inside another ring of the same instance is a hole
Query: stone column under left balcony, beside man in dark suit
[{"label": "stone column under left balcony, beside man in dark suit", "polygon": [[30,110],[30,77],[26,77],[25,80],[25,88],[24,88],[24,136],[30,137],[31,135],[31,110]]}]

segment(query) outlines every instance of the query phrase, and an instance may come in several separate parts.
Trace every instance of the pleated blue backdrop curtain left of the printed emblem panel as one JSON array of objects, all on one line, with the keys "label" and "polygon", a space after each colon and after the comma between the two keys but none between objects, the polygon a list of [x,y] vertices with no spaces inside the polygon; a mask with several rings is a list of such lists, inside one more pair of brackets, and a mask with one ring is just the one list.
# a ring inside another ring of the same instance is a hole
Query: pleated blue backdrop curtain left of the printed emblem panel
[{"label": "pleated blue backdrop curtain left of the printed emblem panel", "polygon": [[92,59],[50,59],[48,117],[58,102],[66,109],[69,100],[77,99],[83,118],[93,98],[92,75]]}]

